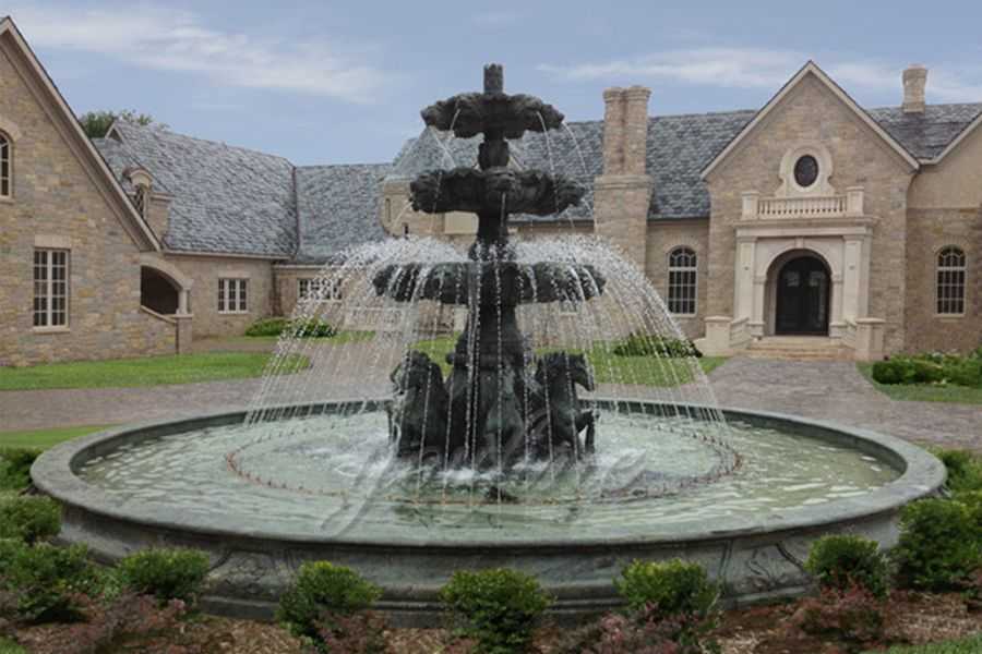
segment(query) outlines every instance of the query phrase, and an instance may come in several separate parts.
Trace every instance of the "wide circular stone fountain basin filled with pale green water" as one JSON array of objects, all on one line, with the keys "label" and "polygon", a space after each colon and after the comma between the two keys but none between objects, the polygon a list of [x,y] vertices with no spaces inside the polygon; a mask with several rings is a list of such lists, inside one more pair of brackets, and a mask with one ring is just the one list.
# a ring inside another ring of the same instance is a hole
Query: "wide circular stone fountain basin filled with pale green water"
[{"label": "wide circular stone fountain basin filled with pale green water", "polygon": [[[897,510],[944,481],[937,460],[887,436],[724,411],[720,444],[698,411],[640,402],[608,407],[614,453],[592,467],[424,473],[385,446],[381,403],[316,413],[275,438],[243,413],[107,432],[55,448],[32,473],[65,505],[62,537],[104,559],[207,552],[215,610],[267,616],[302,561],[330,559],[380,583],[381,608],[404,623],[436,615],[453,570],[487,566],[535,573],[561,613],[614,604],[612,580],[635,558],[697,560],[731,601],[800,592],[814,538],[890,546]],[[739,460],[721,474],[729,446]]]}]

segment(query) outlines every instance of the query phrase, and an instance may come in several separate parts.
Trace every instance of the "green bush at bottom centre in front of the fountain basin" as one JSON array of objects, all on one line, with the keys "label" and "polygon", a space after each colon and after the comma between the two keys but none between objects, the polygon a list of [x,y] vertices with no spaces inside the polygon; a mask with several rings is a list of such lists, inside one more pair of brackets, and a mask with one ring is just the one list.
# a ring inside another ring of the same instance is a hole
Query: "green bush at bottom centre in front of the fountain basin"
[{"label": "green bush at bottom centre in front of the fountain basin", "polygon": [[552,598],[534,577],[496,568],[458,570],[440,591],[440,600],[463,632],[488,654],[525,652],[539,618]]}]

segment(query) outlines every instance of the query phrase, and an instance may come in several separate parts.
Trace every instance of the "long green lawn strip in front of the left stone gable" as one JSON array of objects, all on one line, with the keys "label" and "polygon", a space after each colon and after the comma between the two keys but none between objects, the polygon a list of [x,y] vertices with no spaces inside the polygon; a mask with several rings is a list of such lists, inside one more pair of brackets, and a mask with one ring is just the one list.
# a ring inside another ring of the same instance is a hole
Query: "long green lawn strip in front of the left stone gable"
[{"label": "long green lawn strip in front of the left stone gable", "polygon": [[[208,352],[145,359],[51,363],[32,367],[0,367],[0,391],[52,388],[131,388],[242,379],[263,374],[267,352]],[[310,365],[297,356],[282,368],[296,373]]]}]

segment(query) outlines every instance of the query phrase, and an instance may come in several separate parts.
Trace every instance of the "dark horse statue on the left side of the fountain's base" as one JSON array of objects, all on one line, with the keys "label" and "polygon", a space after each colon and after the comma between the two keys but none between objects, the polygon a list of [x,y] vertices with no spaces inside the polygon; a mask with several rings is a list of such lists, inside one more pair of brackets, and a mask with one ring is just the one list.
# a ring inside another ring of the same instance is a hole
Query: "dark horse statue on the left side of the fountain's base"
[{"label": "dark horse statue on the left side of the fountain's base", "polygon": [[443,372],[427,354],[412,350],[390,375],[396,399],[388,407],[390,443],[402,458],[446,450],[450,396]]}]

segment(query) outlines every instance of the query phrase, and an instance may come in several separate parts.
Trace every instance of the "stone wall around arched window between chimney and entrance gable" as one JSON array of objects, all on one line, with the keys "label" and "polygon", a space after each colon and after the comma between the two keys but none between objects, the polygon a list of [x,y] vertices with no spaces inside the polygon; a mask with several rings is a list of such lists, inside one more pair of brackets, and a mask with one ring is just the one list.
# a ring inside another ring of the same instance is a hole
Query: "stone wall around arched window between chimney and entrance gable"
[{"label": "stone wall around arched window between chimney and entrance gable", "polygon": [[[705,332],[709,270],[709,221],[679,220],[648,222],[645,275],[661,299],[668,303],[668,259],[679,246],[692,247],[696,253],[696,313],[694,316],[674,316],[675,323],[688,338],[699,338]],[[715,292],[719,292],[714,289]],[[727,292],[723,290],[722,292]]]}]

